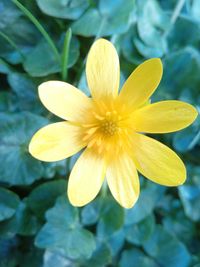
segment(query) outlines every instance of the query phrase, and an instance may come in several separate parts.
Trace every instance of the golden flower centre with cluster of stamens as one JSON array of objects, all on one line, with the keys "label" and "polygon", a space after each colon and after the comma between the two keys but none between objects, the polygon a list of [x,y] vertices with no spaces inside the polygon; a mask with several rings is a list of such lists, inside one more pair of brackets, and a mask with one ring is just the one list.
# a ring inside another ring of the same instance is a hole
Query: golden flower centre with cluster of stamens
[{"label": "golden flower centre with cluster of stamens", "polygon": [[114,104],[101,103],[91,110],[91,123],[83,125],[83,141],[98,154],[115,149],[121,151],[127,137],[124,114]]}]

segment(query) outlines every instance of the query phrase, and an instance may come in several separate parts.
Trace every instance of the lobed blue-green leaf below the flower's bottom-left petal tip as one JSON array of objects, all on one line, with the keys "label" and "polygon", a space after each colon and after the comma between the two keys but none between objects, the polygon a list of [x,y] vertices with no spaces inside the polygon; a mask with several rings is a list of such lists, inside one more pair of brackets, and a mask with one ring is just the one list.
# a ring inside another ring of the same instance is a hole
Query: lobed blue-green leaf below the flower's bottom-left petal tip
[{"label": "lobed blue-green leaf below the flower's bottom-left petal tip", "polygon": [[95,249],[94,237],[81,227],[78,210],[69,204],[65,195],[47,211],[46,219],[47,223],[36,236],[37,247],[62,249],[70,259],[91,257]]}]

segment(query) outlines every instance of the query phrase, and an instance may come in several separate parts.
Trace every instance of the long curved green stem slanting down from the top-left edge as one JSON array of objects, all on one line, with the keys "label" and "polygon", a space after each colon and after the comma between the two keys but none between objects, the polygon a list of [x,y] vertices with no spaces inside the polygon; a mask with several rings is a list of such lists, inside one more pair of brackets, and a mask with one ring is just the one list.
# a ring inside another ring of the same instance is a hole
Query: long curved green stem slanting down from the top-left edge
[{"label": "long curved green stem slanting down from the top-left edge", "polygon": [[49,34],[46,32],[44,27],[40,24],[40,22],[32,15],[32,13],[25,8],[18,0],[12,0],[12,2],[30,19],[30,21],[35,25],[35,27],[40,31],[40,33],[43,35],[43,37],[48,42],[49,46],[53,50],[55,56],[57,57],[58,61],[60,62],[60,55],[58,52],[58,49],[56,48],[53,40],[49,36]]}]

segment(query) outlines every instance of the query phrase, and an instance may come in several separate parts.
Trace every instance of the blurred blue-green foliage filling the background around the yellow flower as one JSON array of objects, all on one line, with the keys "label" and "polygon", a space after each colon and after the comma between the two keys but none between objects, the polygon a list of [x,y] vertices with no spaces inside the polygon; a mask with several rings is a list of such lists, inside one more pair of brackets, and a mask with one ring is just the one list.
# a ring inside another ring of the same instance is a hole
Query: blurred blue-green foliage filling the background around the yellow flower
[{"label": "blurred blue-green foliage filling the background around the yellow flower", "polygon": [[37,86],[63,79],[69,28],[67,81],[85,93],[89,47],[105,37],[118,49],[122,82],[145,59],[161,57],[164,76],[152,101],[180,99],[199,109],[200,1],[21,3],[44,31],[15,0],[0,0],[0,267],[200,266],[199,119],[176,134],[156,136],[183,158],[187,182],[165,188],[140,177],[141,195],[130,210],[109,192],[72,207],[66,187],[77,156],[43,163],[28,153],[33,133],[56,120],[40,103]]}]

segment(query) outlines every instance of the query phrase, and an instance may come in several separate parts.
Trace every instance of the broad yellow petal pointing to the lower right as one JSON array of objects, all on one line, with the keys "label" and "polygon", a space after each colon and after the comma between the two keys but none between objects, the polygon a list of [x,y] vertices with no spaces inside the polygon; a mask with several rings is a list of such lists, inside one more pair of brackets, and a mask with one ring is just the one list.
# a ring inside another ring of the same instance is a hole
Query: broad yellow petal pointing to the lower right
[{"label": "broad yellow petal pointing to the lower right", "polygon": [[136,168],[155,183],[177,186],[184,183],[186,169],[182,160],[167,146],[142,134],[132,136]]}]

